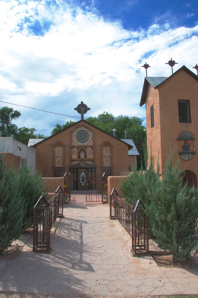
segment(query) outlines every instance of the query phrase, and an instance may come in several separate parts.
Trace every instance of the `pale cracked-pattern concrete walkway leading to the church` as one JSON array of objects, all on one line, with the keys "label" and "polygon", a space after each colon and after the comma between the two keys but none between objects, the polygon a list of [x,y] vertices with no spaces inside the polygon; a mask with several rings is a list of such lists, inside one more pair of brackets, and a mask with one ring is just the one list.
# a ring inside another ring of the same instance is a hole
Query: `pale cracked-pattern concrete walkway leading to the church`
[{"label": "pale cracked-pattern concrete walkway leading to the church", "polygon": [[131,238],[109,220],[109,205],[86,204],[83,193],[71,197],[55,223],[49,254],[33,253],[26,234],[17,242],[23,250],[0,257],[2,291],[72,297],[198,293],[198,269],[160,268],[151,256],[132,257]]}]

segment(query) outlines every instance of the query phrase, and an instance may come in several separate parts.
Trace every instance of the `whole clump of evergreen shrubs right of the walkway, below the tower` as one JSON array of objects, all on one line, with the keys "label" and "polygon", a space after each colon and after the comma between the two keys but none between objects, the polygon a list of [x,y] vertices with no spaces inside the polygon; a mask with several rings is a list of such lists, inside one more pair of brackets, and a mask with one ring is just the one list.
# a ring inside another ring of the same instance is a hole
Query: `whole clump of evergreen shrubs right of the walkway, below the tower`
[{"label": "whole clump of evergreen shrubs right of the walkway, below the tower", "polygon": [[185,259],[198,243],[198,188],[183,186],[185,170],[181,172],[178,160],[173,165],[174,150],[170,149],[162,179],[158,162],[154,169],[152,150],[149,162],[145,152],[145,172],[134,165],[120,189],[130,204],[143,201],[158,246],[172,252],[174,261]]}]

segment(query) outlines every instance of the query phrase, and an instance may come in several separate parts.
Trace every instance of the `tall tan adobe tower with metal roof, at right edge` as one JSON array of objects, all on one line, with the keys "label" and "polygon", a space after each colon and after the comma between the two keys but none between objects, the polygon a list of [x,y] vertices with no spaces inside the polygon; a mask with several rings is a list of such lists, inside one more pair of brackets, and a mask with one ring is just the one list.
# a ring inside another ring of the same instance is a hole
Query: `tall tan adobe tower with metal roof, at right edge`
[{"label": "tall tan adobe tower with metal roof, at right edge", "polygon": [[[198,69],[194,67],[195,69]],[[183,182],[197,187],[198,156],[198,76],[182,66],[170,77],[145,77],[140,107],[146,104],[147,146],[161,170],[169,156],[170,143],[174,158],[186,168]]]}]

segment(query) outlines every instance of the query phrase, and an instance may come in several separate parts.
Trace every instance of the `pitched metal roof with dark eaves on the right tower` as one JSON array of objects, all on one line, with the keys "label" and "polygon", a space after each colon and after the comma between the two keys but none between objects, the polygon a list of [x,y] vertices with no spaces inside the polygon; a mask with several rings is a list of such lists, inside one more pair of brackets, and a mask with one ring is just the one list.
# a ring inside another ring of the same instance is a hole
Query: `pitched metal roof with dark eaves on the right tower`
[{"label": "pitched metal roof with dark eaves on the right tower", "polygon": [[142,89],[142,96],[140,100],[140,107],[145,104],[146,102],[146,96],[149,88],[149,84],[153,86],[155,89],[158,88],[161,84],[163,84],[166,80],[169,80],[172,76],[174,76],[177,72],[180,70],[184,70],[188,75],[193,77],[195,80],[198,81],[198,76],[192,72],[190,69],[188,69],[185,65],[180,67],[180,69],[177,69],[176,72],[174,72],[170,77],[145,77],[144,79],[144,85]]}]

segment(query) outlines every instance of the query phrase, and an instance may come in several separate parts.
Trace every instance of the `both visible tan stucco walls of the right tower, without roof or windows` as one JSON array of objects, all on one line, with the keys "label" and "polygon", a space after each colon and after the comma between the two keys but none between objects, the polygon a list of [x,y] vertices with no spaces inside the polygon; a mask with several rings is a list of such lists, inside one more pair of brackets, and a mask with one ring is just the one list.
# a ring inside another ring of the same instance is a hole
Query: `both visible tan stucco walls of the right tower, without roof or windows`
[{"label": "both visible tan stucco walls of the right tower, without roof or windows", "polygon": [[[178,141],[177,137],[182,131],[191,131],[195,137],[194,145],[198,140],[198,82],[188,75],[184,70],[180,70],[165,83],[159,87],[158,90],[150,88],[148,92],[148,100],[146,102],[146,124],[147,124],[147,144],[150,141],[155,158],[158,156],[158,149],[160,149],[160,166],[163,169],[165,162],[169,156],[170,143],[172,148],[175,147],[174,158],[177,159],[177,148],[182,151],[181,146],[184,141]],[[160,100],[159,100],[160,98]],[[191,123],[180,123],[178,115],[178,99],[190,100],[191,108]],[[150,106],[154,103],[154,121],[155,126],[151,128]],[[160,124],[159,124],[160,122]],[[193,148],[191,142],[190,150]],[[180,168],[186,167],[192,170],[198,177],[198,152],[194,154],[191,160],[184,161],[180,159]]]}]

